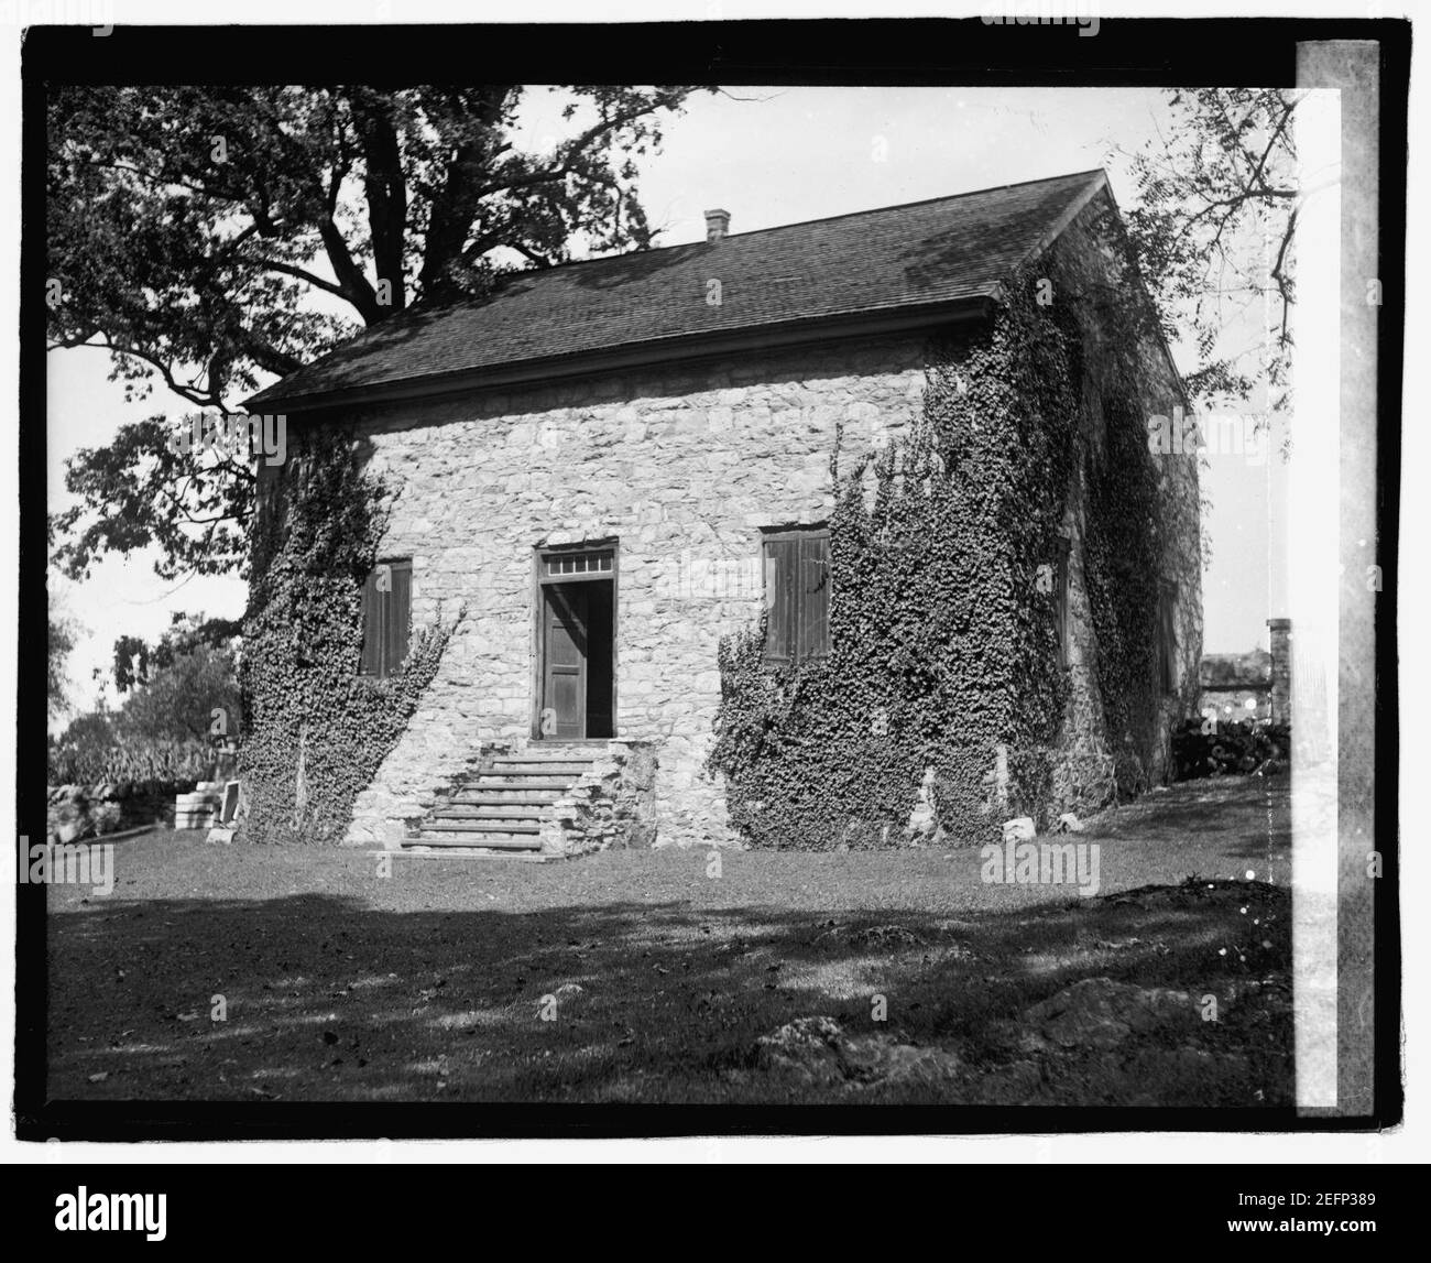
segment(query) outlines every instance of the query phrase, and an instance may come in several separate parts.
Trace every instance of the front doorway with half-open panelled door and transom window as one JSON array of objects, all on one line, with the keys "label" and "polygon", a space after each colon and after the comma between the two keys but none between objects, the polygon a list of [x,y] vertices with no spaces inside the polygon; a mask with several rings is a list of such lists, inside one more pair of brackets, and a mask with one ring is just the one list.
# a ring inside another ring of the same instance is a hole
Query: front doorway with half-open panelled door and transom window
[{"label": "front doorway with half-open panelled door and transom window", "polygon": [[537,679],[532,736],[615,736],[615,543],[537,553]]}]

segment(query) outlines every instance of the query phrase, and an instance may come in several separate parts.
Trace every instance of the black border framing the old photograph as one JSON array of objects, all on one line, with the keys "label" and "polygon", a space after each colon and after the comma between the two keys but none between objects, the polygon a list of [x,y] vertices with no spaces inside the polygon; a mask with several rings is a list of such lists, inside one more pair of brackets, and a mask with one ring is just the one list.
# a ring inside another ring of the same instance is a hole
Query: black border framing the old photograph
[{"label": "black border framing the old photograph", "polygon": [[[1395,652],[1405,315],[1411,24],[1339,19],[1116,19],[1072,26],[977,17],[637,24],[31,27],[23,36],[20,581],[17,835],[44,832],[47,83],[472,82],[920,84],[970,87],[1295,86],[1296,44],[1372,40],[1381,50],[1378,331],[1375,1104],[1365,1117],[1294,1108],[564,1105],[66,1101],[46,1095],[46,891],[16,881],[16,1130],[20,1140],[502,1138],[1109,1131],[1348,1131],[1398,1123],[1401,926]],[[14,841],[19,849],[19,836]],[[11,871],[14,874],[14,871]],[[14,876],[11,878],[14,879]]]}]

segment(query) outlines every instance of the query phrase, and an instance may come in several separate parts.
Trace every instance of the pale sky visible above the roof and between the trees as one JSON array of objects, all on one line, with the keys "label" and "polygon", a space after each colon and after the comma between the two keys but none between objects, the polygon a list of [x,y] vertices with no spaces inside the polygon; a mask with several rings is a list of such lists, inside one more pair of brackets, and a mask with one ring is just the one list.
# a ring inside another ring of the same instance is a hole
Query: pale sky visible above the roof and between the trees
[{"label": "pale sky visible above the roof and between the trees", "polygon": [[[544,96],[527,116],[532,147],[562,129]],[[740,233],[1098,166],[1128,208],[1133,188],[1118,149],[1138,150],[1158,123],[1166,130],[1163,93],[1143,89],[736,87],[697,96],[668,123],[663,152],[643,165],[641,196],[664,229],[661,245],[703,239],[710,206],[730,210]],[[1182,369],[1192,367],[1186,348],[1173,355]],[[107,374],[100,351],[50,354],[52,511],[69,503],[63,460],[76,448],[106,442],[124,421],[186,411],[162,388],[126,404]],[[1246,650],[1266,643],[1268,617],[1285,613],[1285,467],[1275,450],[1209,463],[1203,647]],[[52,577],[50,591],[84,627],[70,660],[82,705],[93,702],[92,673],[107,673],[117,636],[156,637],[176,610],[236,617],[245,601],[238,580],[165,583],[139,557],[107,560],[86,584]]]}]

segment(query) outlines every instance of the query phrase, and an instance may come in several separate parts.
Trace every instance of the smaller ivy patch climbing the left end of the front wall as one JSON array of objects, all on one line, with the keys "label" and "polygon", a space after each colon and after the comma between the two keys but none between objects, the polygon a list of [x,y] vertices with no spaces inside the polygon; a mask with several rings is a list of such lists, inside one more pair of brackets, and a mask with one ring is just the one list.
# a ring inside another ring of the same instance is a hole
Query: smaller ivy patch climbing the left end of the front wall
[{"label": "smaller ivy patch climbing the left end of the front wall", "polygon": [[250,842],[335,845],[455,624],[439,611],[434,626],[415,630],[396,674],[358,674],[362,587],[386,526],[386,490],[366,471],[363,442],[332,428],[295,430],[253,523],[239,666],[249,725],[242,829]]}]

